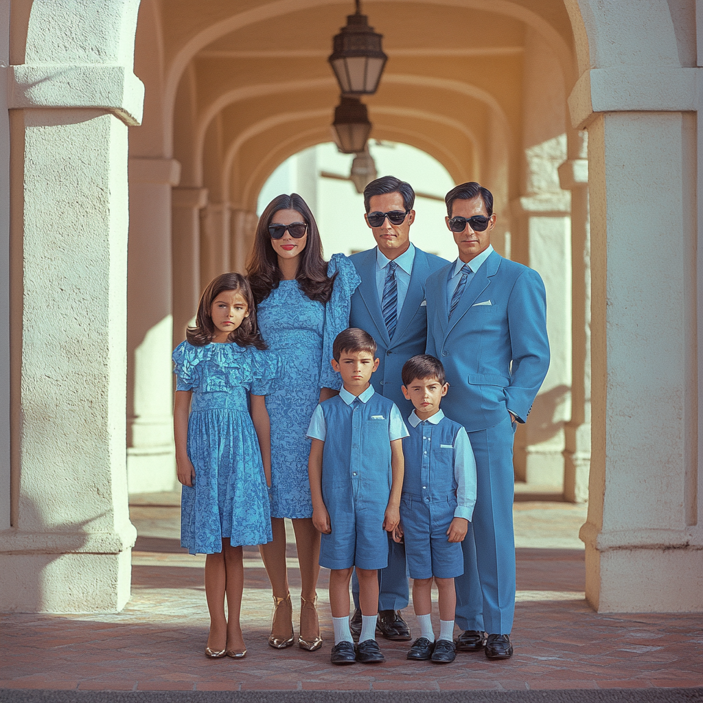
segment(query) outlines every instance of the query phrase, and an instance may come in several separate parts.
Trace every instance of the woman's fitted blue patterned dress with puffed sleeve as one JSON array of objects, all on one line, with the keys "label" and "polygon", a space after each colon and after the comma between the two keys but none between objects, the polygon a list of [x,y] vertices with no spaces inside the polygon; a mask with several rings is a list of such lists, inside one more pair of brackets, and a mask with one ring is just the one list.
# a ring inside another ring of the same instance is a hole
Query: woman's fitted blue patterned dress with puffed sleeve
[{"label": "woman's fitted blue patterned dress with puffed sleeve", "polygon": [[296,280],[282,280],[257,309],[259,328],[283,365],[266,395],[271,418],[271,517],[312,517],[305,437],[321,388],[339,389],[330,365],[335,337],[349,327],[352,293],[361,283],[344,254],[330,259],[337,273],[329,302],[311,300]]}]

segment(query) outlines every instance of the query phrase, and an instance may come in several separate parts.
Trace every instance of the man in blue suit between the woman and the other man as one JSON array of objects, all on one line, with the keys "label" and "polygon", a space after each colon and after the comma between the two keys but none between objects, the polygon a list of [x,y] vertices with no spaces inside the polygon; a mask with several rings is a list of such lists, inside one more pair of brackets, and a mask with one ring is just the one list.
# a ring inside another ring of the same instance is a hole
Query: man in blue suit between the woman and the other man
[{"label": "man in blue suit between the woman and the other man", "polygon": [[[371,181],[363,191],[363,204],[376,246],[352,254],[361,285],[352,296],[349,325],[366,330],[378,344],[380,364],[371,382],[377,393],[392,399],[407,420],[413,405],[401,390],[401,368],[411,356],[425,352],[425,280],[449,262],[411,244],[415,192],[409,183],[394,176]],[[391,538],[388,566],[379,572],[379,581],[378,631],[391,640],[409,640],[410,628],[400,612],[409,597],[405,548]],[[361,631],[356,574],[352,595],[356,610],[351,627],[355,633]]]}]

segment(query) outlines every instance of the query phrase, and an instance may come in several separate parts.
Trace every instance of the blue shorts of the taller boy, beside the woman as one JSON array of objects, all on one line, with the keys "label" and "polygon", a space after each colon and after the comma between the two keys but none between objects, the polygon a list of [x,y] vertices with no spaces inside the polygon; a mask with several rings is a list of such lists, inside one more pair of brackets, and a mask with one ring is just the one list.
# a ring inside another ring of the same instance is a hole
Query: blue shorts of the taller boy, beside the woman
[{"label": "blue shorts of the taller boy, beside the woman", "polygon": [[328,505],[332,531],[322,535],[320,566],[385,569],[388,565],[388,536],[383,529],[385,507],[382,510],[377,505],[362,505],[356,510],[340,507]]}]

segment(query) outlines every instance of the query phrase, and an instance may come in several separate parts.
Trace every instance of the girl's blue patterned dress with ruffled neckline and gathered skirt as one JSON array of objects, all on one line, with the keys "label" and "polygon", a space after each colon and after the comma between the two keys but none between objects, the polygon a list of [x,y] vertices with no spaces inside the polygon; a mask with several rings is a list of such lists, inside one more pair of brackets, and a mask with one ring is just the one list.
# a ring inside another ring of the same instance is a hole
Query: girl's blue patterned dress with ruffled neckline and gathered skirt
[{"label": "girl's blue patterned dress with ruffled neckline and gathered skirt", "polygon": [[271,541],[269,491],[249,394],[266,395],[279,371],[276,354],[238,344],[194,347],[173,354],[176,390],[193,391],[188,457],[193,488],[181,493],[181,546],[191,554]]}]

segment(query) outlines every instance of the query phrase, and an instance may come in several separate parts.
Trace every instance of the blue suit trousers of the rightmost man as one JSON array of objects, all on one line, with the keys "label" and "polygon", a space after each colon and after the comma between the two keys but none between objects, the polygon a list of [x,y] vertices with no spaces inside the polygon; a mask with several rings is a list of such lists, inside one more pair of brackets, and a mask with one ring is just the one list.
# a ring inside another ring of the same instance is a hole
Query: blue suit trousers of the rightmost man
[{"label": "blue suit trousers of the rightmost man", "polygon": [[462,630],[508,635],[515,614],[515,534],[512,442],[517,423],[505,420],[467,432],[476,458],[476,507],[462,543],[464,573],[456,585],[456,624]]}]

